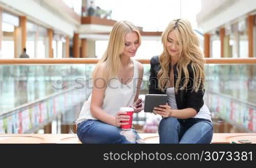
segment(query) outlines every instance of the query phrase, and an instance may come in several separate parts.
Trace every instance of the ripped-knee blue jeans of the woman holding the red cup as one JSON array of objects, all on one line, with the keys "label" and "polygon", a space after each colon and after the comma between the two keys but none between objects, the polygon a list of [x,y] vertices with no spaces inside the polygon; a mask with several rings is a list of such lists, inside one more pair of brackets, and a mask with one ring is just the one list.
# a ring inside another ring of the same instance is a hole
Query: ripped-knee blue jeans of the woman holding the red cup
[{"label": "ripped-knee blue jeans of the woman holding the red cup", "polygon": [[86,120],[77,125],[77,136],[83,144],[136,144],[137,131],[122,130],[99,120]]}]

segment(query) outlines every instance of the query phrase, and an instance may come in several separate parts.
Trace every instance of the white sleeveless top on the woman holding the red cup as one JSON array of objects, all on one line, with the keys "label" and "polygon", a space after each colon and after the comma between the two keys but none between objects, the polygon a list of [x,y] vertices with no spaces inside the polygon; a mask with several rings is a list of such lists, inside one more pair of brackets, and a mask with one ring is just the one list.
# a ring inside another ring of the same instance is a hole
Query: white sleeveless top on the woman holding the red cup
[{"label": "white sleeveless top on the woman holding the red cup", "polygon": [[[133,79],[129,83],[127,83],[127,85],[123,85],[117,77],[112,78],[109,82],[110,85],[106,87],[102,109],[112,116],[115,116],[118,113],[120,107],[130,106],[134,102],[137,91],[139,69],[137,61],[133,59],[131,60],[133,61],[134,65]],[[88,100],[84,102],[79,117],[76,120],[76,124],[88,119],[97,120],[91,115],[91,98],[92,95],[90,95]]]}]

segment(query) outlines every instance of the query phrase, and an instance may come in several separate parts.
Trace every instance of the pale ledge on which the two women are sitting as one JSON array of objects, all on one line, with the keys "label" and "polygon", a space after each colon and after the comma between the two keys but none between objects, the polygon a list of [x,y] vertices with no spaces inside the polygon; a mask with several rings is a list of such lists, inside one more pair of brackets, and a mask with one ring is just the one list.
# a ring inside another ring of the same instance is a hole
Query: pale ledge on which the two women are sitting
[{"label": "pale ledge on which the two women are sitting", "polygon": [[[159,144],[158,133],[139,133],[146,144]],[[212,144],[238,143],[249,139],[256,144],[256,133],[214,133]],[[0,134],[0,144],[81,144],[73,134]]]}]

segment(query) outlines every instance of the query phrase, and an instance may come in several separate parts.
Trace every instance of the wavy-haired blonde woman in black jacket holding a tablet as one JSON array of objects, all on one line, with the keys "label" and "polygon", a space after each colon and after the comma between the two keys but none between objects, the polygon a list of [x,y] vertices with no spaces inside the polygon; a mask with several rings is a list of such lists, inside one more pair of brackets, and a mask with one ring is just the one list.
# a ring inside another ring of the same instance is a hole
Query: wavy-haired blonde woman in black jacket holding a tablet
[{"label": "wavy-haired blonde woman in black jacket holding a tablet", "polygon": [[150,94],[166,94],[168,103],[155,107],[163,118],[160,143],[210,143],[211,115],[204,104],[204,55],[191,24],[172,20],[162,34],[163,53],[151,59]]}]

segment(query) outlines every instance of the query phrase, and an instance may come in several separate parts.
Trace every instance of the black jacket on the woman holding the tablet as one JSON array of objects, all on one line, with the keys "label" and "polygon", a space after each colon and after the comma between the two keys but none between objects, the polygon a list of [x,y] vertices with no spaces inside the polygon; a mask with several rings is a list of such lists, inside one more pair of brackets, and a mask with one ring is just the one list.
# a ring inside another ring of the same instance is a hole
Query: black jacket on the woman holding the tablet
[{"label": "black jacket on the woman holding the tablet", "polygon": [[[158,88],[157,74],[161,66],[159,63],[159,57],[158,56],[153,57],[150,61],[150,64],[151,64],[151,69],[150,69],[151,75],[150,75],[150,86],[148,87],[148,89],[150,90],[150,94],[166,94],[167,88],[164,89],[164,92],[162,92]],[[190,64],[187,66],[187,69],[189,72],[189,79],[188,79],[189,82],[187,84],[187,87],[184,90],[178,89],[177,94],[175,94],[177,108],[178,109],[194,108],[198,113],[200,108],[204,104],[204,101],[203,101],[204,90],[199,89],[197,93],[195,91],[192,92],[193,83],[194,83],[193,82],[194,74]],[[182,73],[181,75],[180,87],[183,86],[183,83],[185,81],[185,80],[182,80],[183,77],[185,77],[184,73]],[[177,78],[178,78],[178,72],[176,70],[176,65],[174,65],[174,86],[176,85]]]}]

